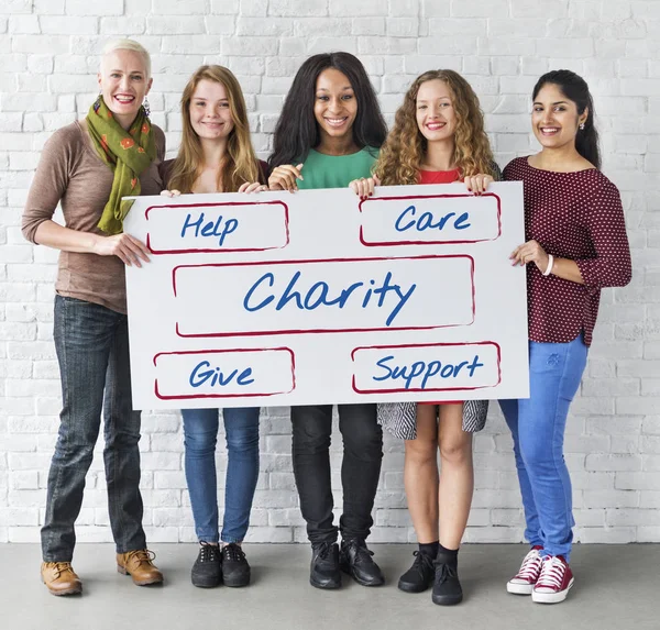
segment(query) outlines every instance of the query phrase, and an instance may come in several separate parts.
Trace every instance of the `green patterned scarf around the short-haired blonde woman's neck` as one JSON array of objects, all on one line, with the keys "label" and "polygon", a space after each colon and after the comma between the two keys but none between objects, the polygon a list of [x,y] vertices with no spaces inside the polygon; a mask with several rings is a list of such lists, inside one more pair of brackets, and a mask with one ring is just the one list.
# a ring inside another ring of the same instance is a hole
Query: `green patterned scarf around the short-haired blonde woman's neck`
[{"label": "green patterned scarf around the short-haired blonde woman's neck", "polygon": [[152,124],[141,107],[129,131],[124,131],[99,97],[89,108],[87,126],[100,158],[114,173],[110,199],[98,228],[107,234],[121,234],[123,220],[133,205],[121,198],[140,195],[140,174],[156,157]]}]

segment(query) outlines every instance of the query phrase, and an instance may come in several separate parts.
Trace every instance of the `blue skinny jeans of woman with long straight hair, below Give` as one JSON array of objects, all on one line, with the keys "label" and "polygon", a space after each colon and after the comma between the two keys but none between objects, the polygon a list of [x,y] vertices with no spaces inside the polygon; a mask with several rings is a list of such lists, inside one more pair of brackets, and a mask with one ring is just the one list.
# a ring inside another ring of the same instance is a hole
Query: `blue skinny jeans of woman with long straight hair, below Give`
[{"label": "blue skinny jeans of woman with long straight hair, below Give", "polygon": [[[227,434],[227,477],[222,542],[241,542],[258,477],[258,407],[222,411]],[[200,541],[218,542],[216,443],[218,409],[184,409],[185,467],[195,533]]]}]

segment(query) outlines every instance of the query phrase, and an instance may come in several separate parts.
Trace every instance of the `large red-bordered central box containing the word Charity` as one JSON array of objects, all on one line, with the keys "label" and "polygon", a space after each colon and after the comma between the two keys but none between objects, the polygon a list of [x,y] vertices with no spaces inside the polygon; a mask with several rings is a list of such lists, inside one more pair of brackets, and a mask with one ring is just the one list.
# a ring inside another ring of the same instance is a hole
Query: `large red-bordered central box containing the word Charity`
[{"label": "large red-bordered central box containing the word Charity", "polygon": [[474,319],[473,263],[461,255],[373,258],[359,266],[186,265],[174,278],[177,302],[186,305],[178,313],[182,336],[439,328]]}]

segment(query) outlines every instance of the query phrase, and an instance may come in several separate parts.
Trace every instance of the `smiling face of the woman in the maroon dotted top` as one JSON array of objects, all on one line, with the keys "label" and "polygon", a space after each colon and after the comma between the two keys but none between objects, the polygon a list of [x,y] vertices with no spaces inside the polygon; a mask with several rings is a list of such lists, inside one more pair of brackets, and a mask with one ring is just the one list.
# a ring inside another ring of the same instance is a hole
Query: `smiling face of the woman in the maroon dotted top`
[{"label": "smiling face of the woman in the maroon dotted top", "polygon": [[559,86],[546,84],[534,100],[531,126],[543,148],[561,148],[575,144],[579,125],[587,117],[588,110],[579,114],[575,102]]}]

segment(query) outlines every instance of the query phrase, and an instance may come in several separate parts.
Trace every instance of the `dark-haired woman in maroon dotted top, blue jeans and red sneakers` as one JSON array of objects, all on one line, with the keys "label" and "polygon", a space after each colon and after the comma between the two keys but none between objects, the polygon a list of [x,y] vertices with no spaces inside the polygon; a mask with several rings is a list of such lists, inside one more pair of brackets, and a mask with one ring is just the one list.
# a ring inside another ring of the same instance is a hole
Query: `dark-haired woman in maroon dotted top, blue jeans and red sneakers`
[{"label": "dark-haired woman in maroon dotted top, blue jeans and red sneakers", "polygon": [[586,365],[601,289],[627,285],[631,264],[619,192],[600,172],[586,82],[570,70],[548,73],[532,101],[541,151],[504,170],[506,180],[525,184],[527,242],[510,257],[527,265],[530,379],[528,399],[501,401],[531,545],[507,590],[554,604],[573,585],[574,521],[563,456],[569,407]]}]

